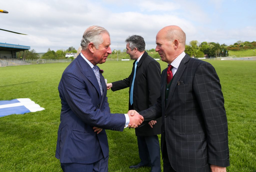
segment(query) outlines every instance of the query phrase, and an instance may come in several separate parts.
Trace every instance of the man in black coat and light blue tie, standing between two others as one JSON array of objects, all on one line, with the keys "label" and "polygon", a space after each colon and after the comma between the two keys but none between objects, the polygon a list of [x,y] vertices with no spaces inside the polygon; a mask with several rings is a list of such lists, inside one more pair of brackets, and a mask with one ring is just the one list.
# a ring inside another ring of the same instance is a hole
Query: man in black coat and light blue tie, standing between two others
[{"label": "man in black coat and light blue tie, standing between two others", "polygon": [[[160,96],[161,68],[159,63],[145,51],[145,41],[138,35],[129,36],[125,42],[126,53],[133,63],[132,73],[126,79],[108,83],[112,91],[129,87],[129,110],[142,111],[156,103]],[[135,129],[141,162],[129,168],[150,166],[151,171],[160,172],[160,146],[157,134],[161,133],[161,117]]]}]

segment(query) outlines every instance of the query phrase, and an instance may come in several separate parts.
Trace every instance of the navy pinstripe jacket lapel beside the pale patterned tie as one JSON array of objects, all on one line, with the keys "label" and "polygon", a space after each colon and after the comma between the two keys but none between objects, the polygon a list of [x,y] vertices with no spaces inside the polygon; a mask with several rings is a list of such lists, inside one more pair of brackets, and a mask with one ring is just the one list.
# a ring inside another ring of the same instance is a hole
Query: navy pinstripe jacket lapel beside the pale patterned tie
[{"label": "navy pinstripe jacket lapel beside the pale patterned tie", "polygon": [[81,55],[77,56],[76,58],[81,66],[82,73],[84,76],[92,83],[92,85],[95,87],[95,89],[99,93],[99,97],[101,99],[101,92],[100,92],[100,86],[98,83],[98,80],[95,76],[95,73],[93,72],[92,68],[90,65],[83,59]]}]

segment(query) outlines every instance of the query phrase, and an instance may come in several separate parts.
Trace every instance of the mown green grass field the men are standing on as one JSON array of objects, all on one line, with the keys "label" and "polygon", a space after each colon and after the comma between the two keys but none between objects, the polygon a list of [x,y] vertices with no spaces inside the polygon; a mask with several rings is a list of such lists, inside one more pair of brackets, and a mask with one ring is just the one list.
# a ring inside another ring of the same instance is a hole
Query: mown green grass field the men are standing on
[{"label": "mown green grass field the men are standing on", "polygon": [[[216,69],[225,98],[229,127],[230,166],[227,171],[256,170],[256,61],[208,60]],[[160,62],[161,69],[166,63]],[[60,123],[58,83],[68,63],[0,68],[0,100],[30,98],[44,111],[0,117],[0,171],[62,171],[55,158]],[[129,76],[132,61],[99,65],[108,82]],[[117,72],[118,71],[118,72]],[[126,113],[128,88],[108,91],[111,112]],[[140,159],[133,129],[107,131],[109,171],[135,171]],[[136,172],[149,171],[142,168]]]}]

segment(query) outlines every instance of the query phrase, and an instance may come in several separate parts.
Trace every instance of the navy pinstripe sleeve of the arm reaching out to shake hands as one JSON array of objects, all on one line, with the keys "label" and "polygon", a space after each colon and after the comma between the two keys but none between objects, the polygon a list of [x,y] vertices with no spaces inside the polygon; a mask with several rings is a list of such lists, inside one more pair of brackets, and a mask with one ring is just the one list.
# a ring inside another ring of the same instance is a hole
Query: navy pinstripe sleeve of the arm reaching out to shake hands
[{"label": "navy pinstripe sleeve of the arm reaching out to shake hands", "polygon": [[[124,114],[111,114],[108,109],[103,112],[96,108],[88,90],[95,89],[92,84],[84,84],[85,81],[70,72],[65,72],[61,78],[61,92],[70,109],[86,124],[99,128],[112,130],[120,128],[123,131],[125,125]],[[89,81],[87,81],[89,82]],[[91,87],[91,88],[87,88]],[[108,105],[107,99],[105,106]]]}]

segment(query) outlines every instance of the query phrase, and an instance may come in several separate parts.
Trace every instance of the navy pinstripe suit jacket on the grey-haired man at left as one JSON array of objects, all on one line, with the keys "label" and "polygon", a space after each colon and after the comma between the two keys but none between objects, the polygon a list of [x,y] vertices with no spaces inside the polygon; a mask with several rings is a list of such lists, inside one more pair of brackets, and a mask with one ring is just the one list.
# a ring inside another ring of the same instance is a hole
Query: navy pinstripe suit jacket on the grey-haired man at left
[{"label": "navy pinstripe suit jacket on the grey-haired man at left", "polygon": [[109,153],[105,130],[97,134],[93,126],[123,131],[124,114],[111,114],[104,77],[100,73],[103,94],[89,64],[79,55],[65,69],[59,83],[60,125],[56,158],[61,163],[89,164]]}]

